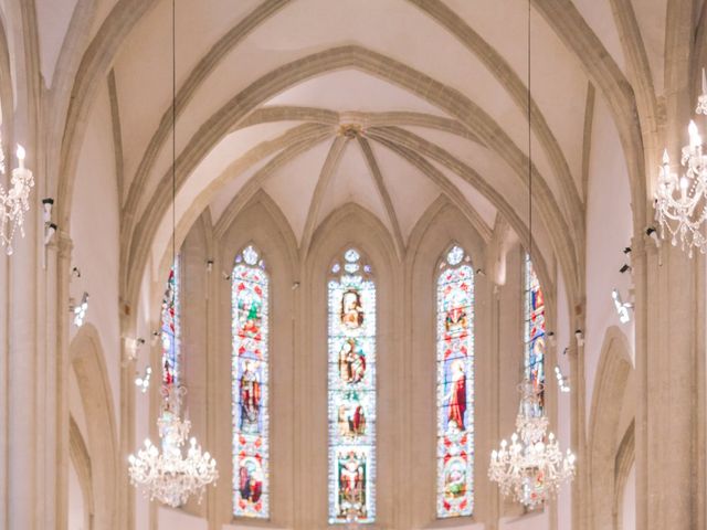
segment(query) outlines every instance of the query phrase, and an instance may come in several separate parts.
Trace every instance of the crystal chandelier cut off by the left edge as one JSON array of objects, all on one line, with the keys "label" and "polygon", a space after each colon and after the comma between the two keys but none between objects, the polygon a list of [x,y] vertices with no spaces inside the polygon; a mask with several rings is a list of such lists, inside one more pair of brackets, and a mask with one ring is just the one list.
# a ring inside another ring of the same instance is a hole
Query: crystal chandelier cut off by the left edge
[{"label": "crystal chandelier cut off by the left edge", "polygon": [[[4,246],[8,255],[12,254],[12,239],[17,230],[24,237],[24,214],[30,210],[30,191],[34,187],[32,171],[24,167],[24,149],[18,146],[20,166],[12,170],[10,188],[0,184],[0,246]],[[4,153],[0,145],[0,174],[6,173]]]}]

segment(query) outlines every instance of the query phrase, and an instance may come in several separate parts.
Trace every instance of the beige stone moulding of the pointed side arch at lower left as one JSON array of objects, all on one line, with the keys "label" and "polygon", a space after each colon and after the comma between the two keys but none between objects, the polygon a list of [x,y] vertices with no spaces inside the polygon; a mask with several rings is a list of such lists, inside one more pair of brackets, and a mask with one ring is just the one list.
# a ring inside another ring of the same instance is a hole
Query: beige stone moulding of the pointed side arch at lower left
[{"label": "beige stone moulding of the pointed side arch at lower left", "polygon": [[97,329],[82,326],[70,346],[71,364],[86,416],[94,529],[117,528],[118,443],[113,395]]}]

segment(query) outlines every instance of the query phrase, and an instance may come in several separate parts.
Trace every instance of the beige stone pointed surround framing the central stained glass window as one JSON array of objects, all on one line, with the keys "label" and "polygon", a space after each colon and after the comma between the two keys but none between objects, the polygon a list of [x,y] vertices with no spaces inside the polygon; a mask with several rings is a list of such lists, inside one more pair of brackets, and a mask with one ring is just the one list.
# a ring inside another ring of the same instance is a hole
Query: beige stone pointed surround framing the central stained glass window
[{"label": "beige stone pointed surround framing the central stained glass window", "polygon": [[399,528],[404,497],[398,447],[405,384],[400,343],[403,305],[402,274],[393,237],[381,221],[358,204],[331,212],[315,231],[302,268],[302,341],[295,370],[299,394],[308,415],[298,425],[300,458],[296,471],[295,504],[299,528],[327,528],[328,414],[327,414],[327,279],[333,263],[349,248],[369,258],[377,289],[377,517],[376,528]]}]

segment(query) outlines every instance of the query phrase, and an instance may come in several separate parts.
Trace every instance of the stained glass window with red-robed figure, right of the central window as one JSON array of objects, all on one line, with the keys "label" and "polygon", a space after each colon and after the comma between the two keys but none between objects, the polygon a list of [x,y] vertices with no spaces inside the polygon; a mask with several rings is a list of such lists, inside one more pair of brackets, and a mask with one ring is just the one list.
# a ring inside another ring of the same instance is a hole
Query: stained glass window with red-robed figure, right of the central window
[{"label": "stained glass window with red-robed figure, right of the central window", "polygon": [[474,511],[474,269],[452,246],[437,276],[437,517]]}]

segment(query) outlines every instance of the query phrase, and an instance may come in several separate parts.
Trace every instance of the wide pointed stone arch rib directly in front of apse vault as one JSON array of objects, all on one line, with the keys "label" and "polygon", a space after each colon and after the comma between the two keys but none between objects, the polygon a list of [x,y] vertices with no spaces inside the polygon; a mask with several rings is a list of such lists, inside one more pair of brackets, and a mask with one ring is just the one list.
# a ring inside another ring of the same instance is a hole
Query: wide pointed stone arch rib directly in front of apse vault
[{"label": "wide pointed stone arch rib directly in front of apse vault", "polygon": [[[219,112],[204,121],[201,128],[192,136],[191,141],[188,144],[188,149],[179,155],[176,162],[178,186],[184,182],[219,138],[226,134],[234,124],[245,119],[249,112],[266,100],[270,95],[325,72],[342,68],[355,68],[382,76],[387,81],[411,91],[413,94],[422,95],[433,105],[451,113],[462,124],[476,132],[490,149],[499,152],[508,162],[513,173],[524,183],[526,182],[528,177],[527,157],[510,141],[507,134],[471,99],[386,55],[361,46],[347,45],[315,53],[275,68],[235,95]],[[422,86],[428,88],[423,91]],[[576,290],[579,288],[579,272],[574,259],[577,250],[570,235],[571,232],[547,182],[537,172],[537,169],[534,171],[536,172],[534,182],[538,187],[538,210],[550,231],[555,251],[564,272],[568,292],[571,293],[572,299],[578,299]],[[171,179],[171,170],[168,170],[161,178],[165,182],[169,179]],[[162,188],[167,190],[166,187],[159,186],[157,189],[161,190]],[[135,226],[131,237],[126,240],[129,241],[128,245],[123,248],[122,261],[126,264],[134,264],[130,271],[126,271],[129,299],[136,296],[139,272],[147,258],[148,245],[146,241],[151,237],[155,226],[159,224],[159,220],[167,209],[168,197],[166,191],[163,193],[160,192],[152,201],[152,204],[155,208],[143,214]],[[126,219],[130,219],[129,215]]]}]

